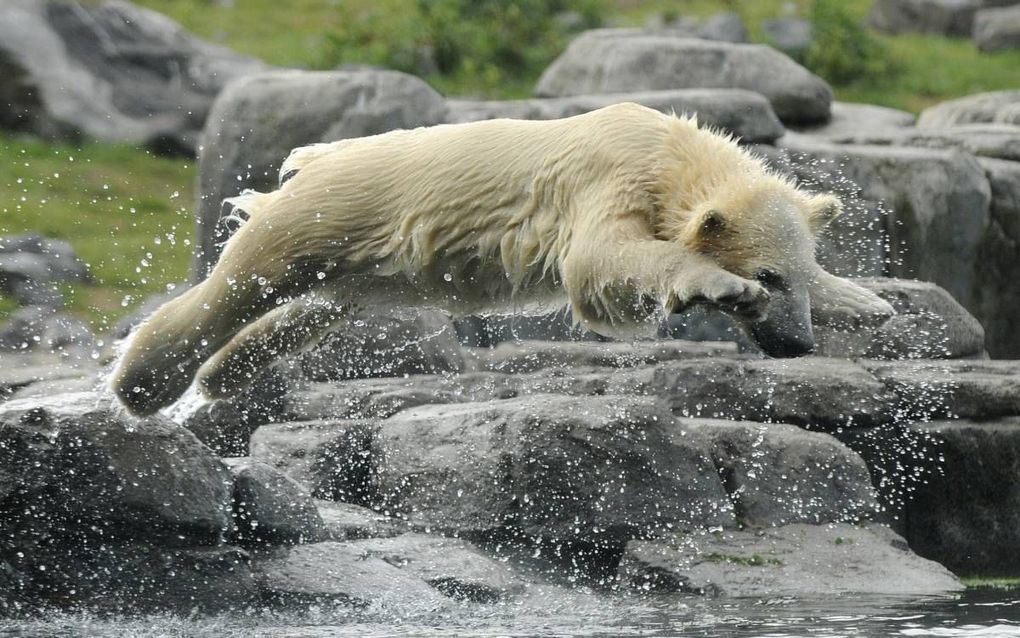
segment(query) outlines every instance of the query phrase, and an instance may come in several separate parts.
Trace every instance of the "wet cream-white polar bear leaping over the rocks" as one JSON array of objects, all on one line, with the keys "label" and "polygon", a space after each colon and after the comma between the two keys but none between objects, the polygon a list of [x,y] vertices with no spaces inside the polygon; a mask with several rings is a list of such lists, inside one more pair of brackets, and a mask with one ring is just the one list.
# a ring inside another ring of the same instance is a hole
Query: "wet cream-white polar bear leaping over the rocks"
[{"label": "wet cream-white polar bear leaping over the rocks", "polygon": [[359,306],[566,302],[582,327],[629,338],[703,303],[776,356],[811,351],[812,313],[892,313],[815,261],[838,199],[638,104],[313,145],[280,175],[228,200],[248,220],[209,277],[133,336],[111,380],[132,411],[172,403],[196,374],[207,396],[233,395]]}]

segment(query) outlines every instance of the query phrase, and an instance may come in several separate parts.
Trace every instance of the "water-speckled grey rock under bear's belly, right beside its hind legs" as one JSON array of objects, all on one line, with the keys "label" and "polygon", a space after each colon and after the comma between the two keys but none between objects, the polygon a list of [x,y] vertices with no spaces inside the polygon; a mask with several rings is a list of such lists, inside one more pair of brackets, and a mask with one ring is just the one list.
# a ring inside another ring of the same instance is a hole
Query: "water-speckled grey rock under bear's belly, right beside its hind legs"
[{"label": "water-speckled grey rock under bear's belly, right beside its hind legs", "polygon": [[355,315],[302,357],[312,381],[457,373],[464,356],[450,317],[438,310],[388,308]]}]

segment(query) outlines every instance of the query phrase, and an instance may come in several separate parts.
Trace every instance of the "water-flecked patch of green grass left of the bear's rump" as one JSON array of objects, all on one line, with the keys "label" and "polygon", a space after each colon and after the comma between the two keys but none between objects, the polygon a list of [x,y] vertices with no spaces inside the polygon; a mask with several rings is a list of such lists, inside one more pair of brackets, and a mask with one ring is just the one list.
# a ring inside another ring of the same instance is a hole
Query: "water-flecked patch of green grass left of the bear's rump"
[{"label": "water-flecked patch of green grass left of the bear's rump", "polygon": [[[194,182],[192,161],[0,136],[0,235],[69,241],[96,280],[65,287],[69,307],[103,328],[187,278]],[[0,299],[0,313],[12,308]]]}]

